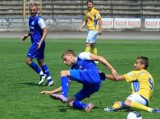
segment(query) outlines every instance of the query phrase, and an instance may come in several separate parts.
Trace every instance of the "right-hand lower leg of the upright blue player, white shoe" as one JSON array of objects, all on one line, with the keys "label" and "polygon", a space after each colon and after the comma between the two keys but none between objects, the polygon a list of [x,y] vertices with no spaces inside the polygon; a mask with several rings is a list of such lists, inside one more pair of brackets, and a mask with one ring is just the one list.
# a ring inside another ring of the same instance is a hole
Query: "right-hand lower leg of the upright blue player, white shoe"
[{"label": "right-hand lower leg of the upright blue player, white shoe", "polygon": [[[40,65],[40,67],[42,68],[43,72],[46,74],[47,76],[47,86],[51,86],[53,85],[53,80],[51,78],[51,75],[50,75],[50,71],[49,71],[49,68],[48,66],[44,63],[44,59],[39,59],[38,60],[38,64]],[[40,83],[43,83],[43,79],[40,81]]]}]

